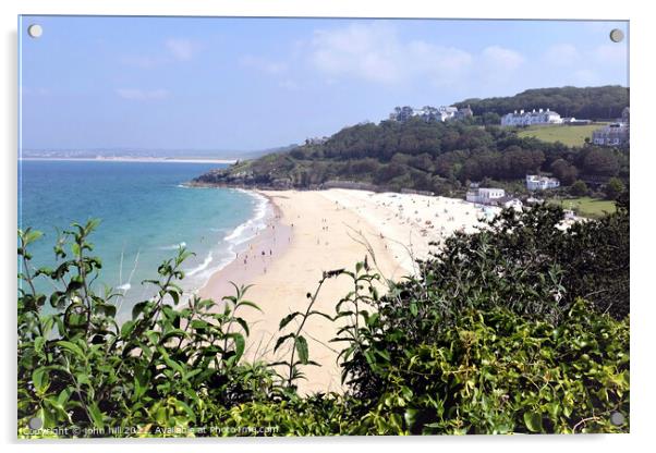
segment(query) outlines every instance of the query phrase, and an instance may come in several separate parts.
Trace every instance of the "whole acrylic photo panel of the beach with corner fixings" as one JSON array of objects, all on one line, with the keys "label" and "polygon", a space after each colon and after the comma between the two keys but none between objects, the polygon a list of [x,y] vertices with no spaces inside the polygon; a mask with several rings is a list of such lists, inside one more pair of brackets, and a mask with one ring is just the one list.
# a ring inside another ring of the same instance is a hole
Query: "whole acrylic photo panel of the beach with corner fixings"
[{"label": "whole acrylic photo panel of the beach with corner fixings", "polygon": [[627,21],[19,36],[19,437],[629,431]]}]

